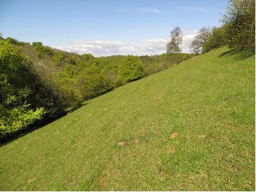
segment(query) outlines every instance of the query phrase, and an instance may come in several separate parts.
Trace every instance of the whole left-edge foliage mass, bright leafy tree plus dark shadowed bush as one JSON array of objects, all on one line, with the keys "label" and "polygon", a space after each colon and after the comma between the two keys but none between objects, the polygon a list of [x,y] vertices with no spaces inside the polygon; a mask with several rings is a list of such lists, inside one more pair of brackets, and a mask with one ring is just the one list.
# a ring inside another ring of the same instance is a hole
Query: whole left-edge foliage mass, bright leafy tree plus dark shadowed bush
[{"label": "whole left-edge foliage mass, bright leafy tree plus dark shadowed bush", "polygon": [[19,54],[7,40],[0,41],[0,81],[0,137],[60,115],[68,105],[47,67]]}]

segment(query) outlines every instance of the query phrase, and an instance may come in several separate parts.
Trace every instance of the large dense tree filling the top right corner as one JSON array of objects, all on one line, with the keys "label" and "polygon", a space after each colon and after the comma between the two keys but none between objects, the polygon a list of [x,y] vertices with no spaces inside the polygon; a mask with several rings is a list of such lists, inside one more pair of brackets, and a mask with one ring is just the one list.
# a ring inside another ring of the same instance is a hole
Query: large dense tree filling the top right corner
[{"label": "large dense tree filling the top right corner", "polygon": [[228,47],[255,49],[255,0],[229,0],[222,22]]}]

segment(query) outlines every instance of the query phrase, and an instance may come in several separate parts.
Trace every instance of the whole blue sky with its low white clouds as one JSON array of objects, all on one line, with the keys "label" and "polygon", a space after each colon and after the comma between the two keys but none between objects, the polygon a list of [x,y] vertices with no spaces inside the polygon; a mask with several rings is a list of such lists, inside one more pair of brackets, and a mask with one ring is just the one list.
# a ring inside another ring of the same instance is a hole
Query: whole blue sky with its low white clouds
[{"label": "whole blue sky with its low white clouds", "polygon": [[170,31],[182,52],[202,26],[220,26],[227,0],[0,0],[0,32],[93,56],[166,52]]}]

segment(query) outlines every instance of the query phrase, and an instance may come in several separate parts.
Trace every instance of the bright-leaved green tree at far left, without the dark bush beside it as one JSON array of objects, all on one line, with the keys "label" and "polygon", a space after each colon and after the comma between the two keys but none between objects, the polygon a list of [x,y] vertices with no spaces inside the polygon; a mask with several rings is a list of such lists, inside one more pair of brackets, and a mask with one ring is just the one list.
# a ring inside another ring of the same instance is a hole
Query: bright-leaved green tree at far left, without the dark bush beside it
[{"label": "bright-leaved green tree at far left, without the dark bush beside it", "polygon": [[45,113],[27,102],[33,97],[32,62],[0,40],[0,138],[24,129]]}]

